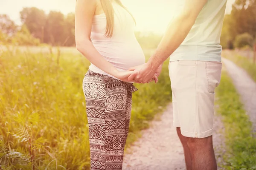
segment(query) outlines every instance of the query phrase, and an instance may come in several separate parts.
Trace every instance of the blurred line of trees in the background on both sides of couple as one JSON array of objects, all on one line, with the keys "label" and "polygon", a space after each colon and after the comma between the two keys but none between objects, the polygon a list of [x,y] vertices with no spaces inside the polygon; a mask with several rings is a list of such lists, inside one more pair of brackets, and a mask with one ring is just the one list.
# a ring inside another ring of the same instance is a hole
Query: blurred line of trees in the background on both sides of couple
[{"label": "blurred line of trees in the background on both sides of couple", "polygon": [[[45,11],[31,7],[20,11],[21,26],[10,20],[8,15],[0,15],[0,40],[14,42],[18,45],[38,45],[46,43],[59,46],[75,45],[75,14],[66,16],[59,11]],[[136,36],[139,42],[157,46],[160,36],[149,34],[150,37]],[[155,39],[155,40],[154,40]],[[224,17],[221,33],[223,48],[253,48],[256,44],[256,0],[236,0],[230,14]],[[148,46],[148,45],[146,45]]]}]

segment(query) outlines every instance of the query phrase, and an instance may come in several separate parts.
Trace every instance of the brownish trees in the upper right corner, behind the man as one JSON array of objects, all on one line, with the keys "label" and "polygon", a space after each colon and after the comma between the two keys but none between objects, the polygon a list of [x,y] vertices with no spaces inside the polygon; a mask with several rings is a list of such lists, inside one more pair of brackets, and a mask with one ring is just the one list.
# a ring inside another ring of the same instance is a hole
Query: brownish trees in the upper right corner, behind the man
[{"label": "brownish trees in the upper right corner, behind the man", "polygon": [[253,48],[256,44],[256,0],[236,0],[225,15],[221,33],[223,48]]}]

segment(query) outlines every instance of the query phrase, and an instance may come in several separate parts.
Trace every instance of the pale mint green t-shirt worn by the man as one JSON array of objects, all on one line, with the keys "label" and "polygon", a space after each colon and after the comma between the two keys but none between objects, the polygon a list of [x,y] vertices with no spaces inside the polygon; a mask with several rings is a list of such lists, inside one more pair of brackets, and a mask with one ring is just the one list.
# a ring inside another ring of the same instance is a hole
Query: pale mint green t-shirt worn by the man
[{"label": "pale mint green t-shirt worn by the man", "polygon": [[227,0],[208,0],[170,61],[221,61],[221,29]]}]

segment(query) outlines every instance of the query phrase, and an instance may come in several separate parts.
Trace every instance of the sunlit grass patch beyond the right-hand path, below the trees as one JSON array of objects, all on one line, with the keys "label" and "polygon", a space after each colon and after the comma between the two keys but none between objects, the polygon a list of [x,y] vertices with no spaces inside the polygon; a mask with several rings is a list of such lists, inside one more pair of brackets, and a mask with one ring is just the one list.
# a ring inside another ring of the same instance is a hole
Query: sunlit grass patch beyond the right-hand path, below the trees
[{"label": "sunlit grass patch beyond the right-hand path, below the trees", "polygon": [[248,59],[246,57],[242,57],[235,54],[235,51],[230,51],[231,55],[224,55],[225,58],[230,59],[236,65],[241,68],[244,68],[245,71],[256,81],[256,63],[253,64],[252,59]]}]

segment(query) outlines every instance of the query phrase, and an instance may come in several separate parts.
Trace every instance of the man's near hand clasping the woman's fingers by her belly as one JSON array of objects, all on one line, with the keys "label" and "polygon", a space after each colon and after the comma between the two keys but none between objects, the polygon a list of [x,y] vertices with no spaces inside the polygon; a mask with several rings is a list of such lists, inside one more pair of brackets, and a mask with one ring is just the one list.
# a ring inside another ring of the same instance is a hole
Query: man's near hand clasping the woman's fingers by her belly
[{"label": "man's near hand clasping the woman's fingers by her belly", "polygon": [[[136,81],[140,83],[149,82],[157,71],[156,68],[151,67],[150,64],[145,63],[143,65],[139,65],[136,68],[130,68],[129,70],[134,70],[133,73],[128,77],[128,81]],[[156,77],[157,78],[157,77]],[[156,79],[154,77],[154,79]]]}]

